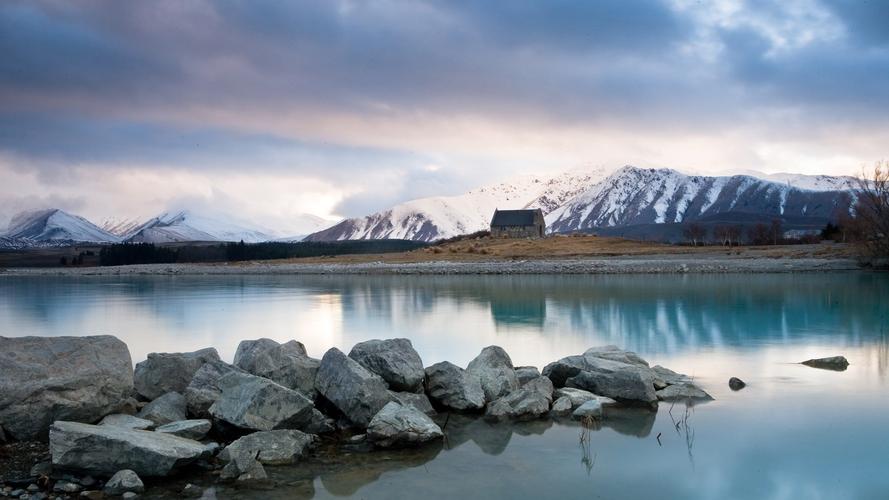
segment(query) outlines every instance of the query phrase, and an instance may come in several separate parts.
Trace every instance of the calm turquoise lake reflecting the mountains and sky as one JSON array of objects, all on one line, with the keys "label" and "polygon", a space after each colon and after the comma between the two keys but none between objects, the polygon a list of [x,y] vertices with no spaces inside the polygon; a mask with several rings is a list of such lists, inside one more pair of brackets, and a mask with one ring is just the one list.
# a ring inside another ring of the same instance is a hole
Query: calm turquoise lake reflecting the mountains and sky
[{"label": "calm turquoise lake reflecting the mountains and sky", "polygon": [[[497,344],[542,368],[615,344],[716,398],[606,421],[585,444],[570,422],[455,417],[443,445],[271,468],[281,487],[221,497],[889,498],[887,274],[0,277],[0,335],[88,334],[134,362],[407,337],[427,366]],[[831,355],[851,365],[797,364]]]}]

